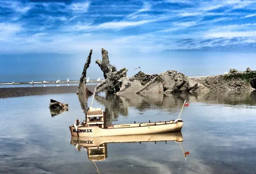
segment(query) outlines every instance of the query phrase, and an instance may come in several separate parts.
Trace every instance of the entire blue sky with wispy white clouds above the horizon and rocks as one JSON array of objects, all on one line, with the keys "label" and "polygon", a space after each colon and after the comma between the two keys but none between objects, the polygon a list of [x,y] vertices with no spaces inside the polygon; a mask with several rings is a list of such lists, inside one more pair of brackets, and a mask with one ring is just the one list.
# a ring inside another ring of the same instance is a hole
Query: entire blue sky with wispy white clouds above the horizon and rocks
[{"label": "entire blue sky with wispy white clouds above the horizon and rocks", "polygon": [[103,78],[101,48],[128,76],[256,69],[256,0],[0,0],[0,82],[79,79],[91,49]]}]

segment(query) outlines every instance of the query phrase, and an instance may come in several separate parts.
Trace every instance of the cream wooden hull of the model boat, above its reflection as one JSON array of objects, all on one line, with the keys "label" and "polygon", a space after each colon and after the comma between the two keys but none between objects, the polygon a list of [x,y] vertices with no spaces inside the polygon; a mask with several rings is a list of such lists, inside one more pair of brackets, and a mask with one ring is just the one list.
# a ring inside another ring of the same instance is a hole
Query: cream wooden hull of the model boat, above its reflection
[{"label": "cream wooden hull of the model boat, above its reflection", "polygon": [[[141,126],[139,126],[141,125]],[[173,123],[140,123],[136,124],[120,124],[113,125],[113,128],[99,128],[98,126],[90,127],[75,127],[69,126],[72,136],[79,137],[102,137],[102,136],[117,136],[117,135],[138,135],[138,134],[152,134],[152,133],[170,133],[181,131],[183,122]],[[122,127],[123,126],[123,127]],[[125,128],[124,128],[125,127]]]}]

